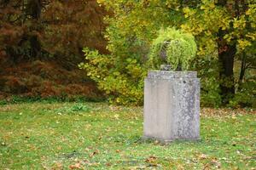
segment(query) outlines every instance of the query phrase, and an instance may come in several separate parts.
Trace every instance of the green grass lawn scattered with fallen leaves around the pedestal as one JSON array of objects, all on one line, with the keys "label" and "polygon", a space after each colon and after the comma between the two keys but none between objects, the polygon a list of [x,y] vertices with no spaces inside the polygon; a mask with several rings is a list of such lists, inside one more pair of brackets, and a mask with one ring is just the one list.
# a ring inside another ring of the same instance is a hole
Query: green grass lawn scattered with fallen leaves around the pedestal
[{"label": "green grass lawn scattered with fallen leaves around the pedestal", "polygon": [[255,169],[255,111],[201,109],[201,140],[143,141],[143,108],[0,106],[0,169]]}]

